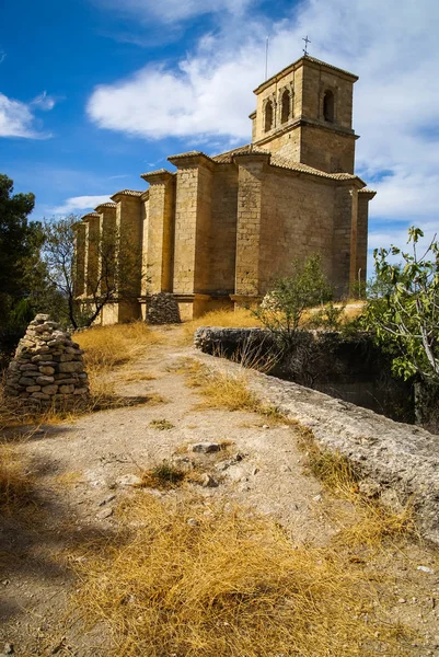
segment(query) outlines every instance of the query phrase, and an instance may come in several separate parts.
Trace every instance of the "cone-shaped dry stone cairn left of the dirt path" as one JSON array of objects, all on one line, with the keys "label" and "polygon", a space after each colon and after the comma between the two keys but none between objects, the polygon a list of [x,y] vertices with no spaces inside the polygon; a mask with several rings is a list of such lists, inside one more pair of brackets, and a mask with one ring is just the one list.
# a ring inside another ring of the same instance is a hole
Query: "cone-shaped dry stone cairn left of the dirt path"
[{"label": "cone-shaped dry stone cairn left of the dirt path", "polygon": [[9,365],[9,396],[24,407],[79,407],[89,401],[82,350],[49,315],[37,314]]}]

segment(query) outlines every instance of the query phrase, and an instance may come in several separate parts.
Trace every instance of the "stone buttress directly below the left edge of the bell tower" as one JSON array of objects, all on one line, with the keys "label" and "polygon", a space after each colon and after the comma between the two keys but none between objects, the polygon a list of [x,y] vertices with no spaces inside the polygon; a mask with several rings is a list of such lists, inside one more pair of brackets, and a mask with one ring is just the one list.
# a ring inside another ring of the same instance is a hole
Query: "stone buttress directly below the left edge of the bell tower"
[{"label": "stone buttress directly below the left edge of the bell tower", "polygon": [[261,290],[259,252],[263,210],[263,182],[268,154],[234,158],[239,165],[236,278],[232,300],[242,306],[256,301]]}]

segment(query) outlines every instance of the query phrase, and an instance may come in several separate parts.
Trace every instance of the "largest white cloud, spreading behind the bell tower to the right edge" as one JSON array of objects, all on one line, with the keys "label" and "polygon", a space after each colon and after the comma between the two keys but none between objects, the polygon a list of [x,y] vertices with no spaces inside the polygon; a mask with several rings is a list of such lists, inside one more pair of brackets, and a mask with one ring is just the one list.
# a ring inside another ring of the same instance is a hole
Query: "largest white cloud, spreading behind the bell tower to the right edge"
[{"label": "largest white cloud, spreading behind the bell tower to the right edge", "polygon": [[[131,8],[149,4],[130,0]],[[178,7],[184,13],[196,4]],[[379,193],[371,203],[372,227],[379,218],[389,228],[372,230],[371,241],[374,234],[405,238],[409,223],[432,224],[439,207],[439,3],[304,0],[299,7],[272,25],[269,74],[300,57],[307,33],[312,56],[359,74],[357,171]],[[249,14],[239,30],[235,25],[206,34],[174,68],[150,65],[97,87],[88,104],[90,118],[150,140],[183,137],[189,148],[250,140],[247,114],[255,107],[252,90],[264,76],[266,22]]]}]

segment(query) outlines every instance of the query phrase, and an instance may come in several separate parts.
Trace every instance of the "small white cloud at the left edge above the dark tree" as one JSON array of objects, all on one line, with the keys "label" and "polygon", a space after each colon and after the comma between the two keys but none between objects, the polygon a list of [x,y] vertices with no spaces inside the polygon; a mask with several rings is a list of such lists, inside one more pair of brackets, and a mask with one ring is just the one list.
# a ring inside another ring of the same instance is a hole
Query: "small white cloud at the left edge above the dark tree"
[{"label": "small white cloud at the left edge above the dark tree", "polygon": [[42,110],[51,110],[55,102],[46,95],[38,96],[30,104],[9,99],[0,93],[0,137],[23,137],[27,139],[47,139],[47,132],[35,129],[35,115],[33,106]]}]

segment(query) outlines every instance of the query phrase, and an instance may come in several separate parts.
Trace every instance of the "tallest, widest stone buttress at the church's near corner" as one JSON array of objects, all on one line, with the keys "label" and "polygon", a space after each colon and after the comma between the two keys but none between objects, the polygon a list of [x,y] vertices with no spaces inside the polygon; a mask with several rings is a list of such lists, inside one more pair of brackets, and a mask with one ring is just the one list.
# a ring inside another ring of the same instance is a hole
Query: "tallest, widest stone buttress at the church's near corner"
[{"label": "tallest, widest stone buttress at the church's near corner", "polygon": [[200,152],[169,158],[177,166],[173,291],[183,320],[208,308],[211,184],[216,163]]}]

